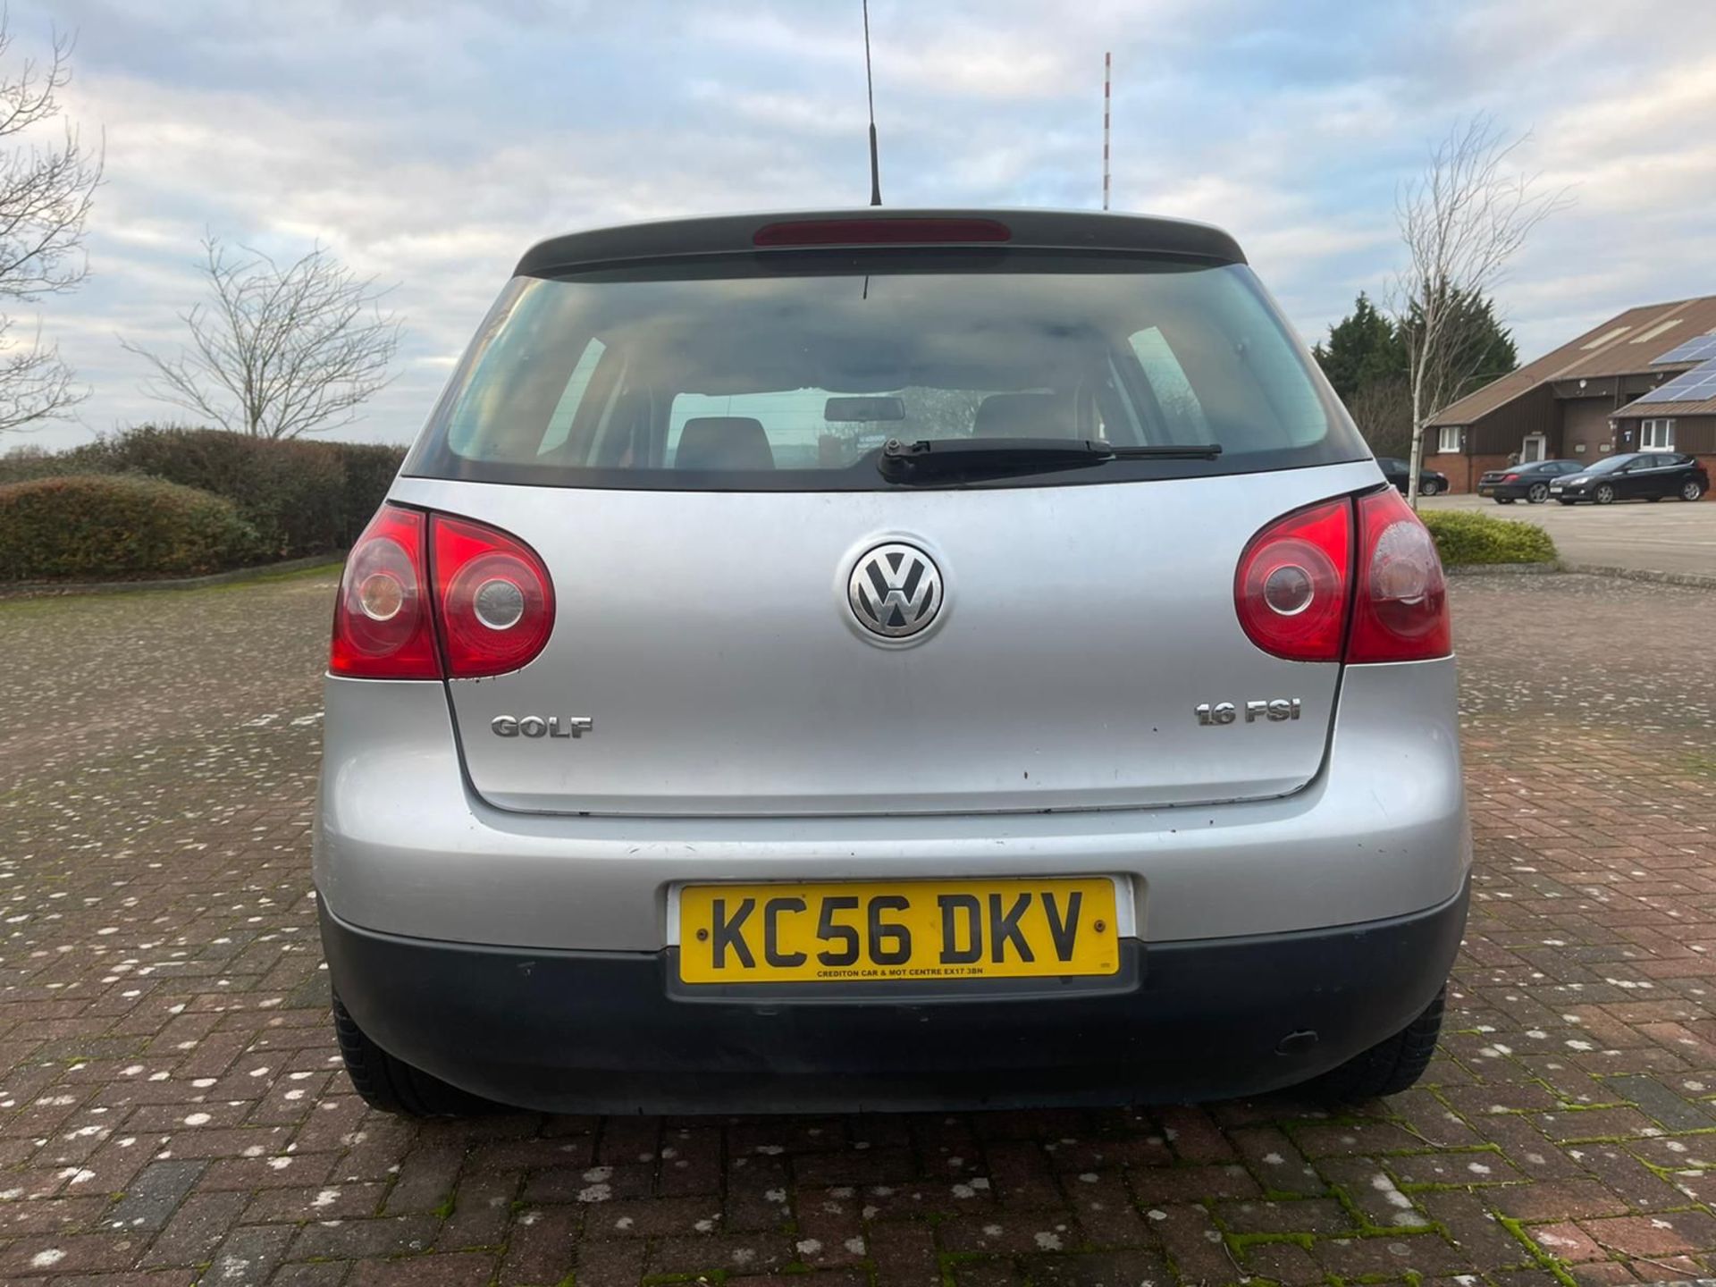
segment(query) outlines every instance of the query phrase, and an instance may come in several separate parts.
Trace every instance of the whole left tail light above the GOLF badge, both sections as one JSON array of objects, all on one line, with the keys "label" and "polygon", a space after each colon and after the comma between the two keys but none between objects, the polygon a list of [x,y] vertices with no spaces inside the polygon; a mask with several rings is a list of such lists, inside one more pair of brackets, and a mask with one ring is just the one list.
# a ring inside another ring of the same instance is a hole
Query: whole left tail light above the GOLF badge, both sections
[{"label": "whole left tail light above the GOLF badge, both sections", "polygon": [[517,671],[547,644],[554,589],[535,551],[468,518],[384,505],[352,546],[328,669],[362,680]]}]

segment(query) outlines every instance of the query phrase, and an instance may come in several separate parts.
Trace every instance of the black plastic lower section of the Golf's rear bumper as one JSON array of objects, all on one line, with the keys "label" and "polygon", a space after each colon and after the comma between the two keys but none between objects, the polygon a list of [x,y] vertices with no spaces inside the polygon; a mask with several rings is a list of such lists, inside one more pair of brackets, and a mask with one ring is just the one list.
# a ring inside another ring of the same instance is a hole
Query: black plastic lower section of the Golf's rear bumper
[{"label": "black plastic lower section of the Golf's rear bumper", "polygon": [[1409,916],[1127,940],[1115,990],[767,1002],[671,995],[674,951],[479,947],[323,906],[335,990],[390,1054],[547,1112],[817,1112],[1253,1095],[1405,1028],[1448,975],[1467,885]]}]

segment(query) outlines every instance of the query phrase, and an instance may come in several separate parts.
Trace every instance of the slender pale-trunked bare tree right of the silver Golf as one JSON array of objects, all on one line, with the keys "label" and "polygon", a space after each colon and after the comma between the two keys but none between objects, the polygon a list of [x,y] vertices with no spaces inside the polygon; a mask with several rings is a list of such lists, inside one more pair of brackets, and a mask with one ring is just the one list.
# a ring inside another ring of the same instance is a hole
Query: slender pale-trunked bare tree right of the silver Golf
[{"label": "slender pale-trunked bare tree right of the silver Golf", "polygon": [[1395,280],[1390,311],[1407,347],[1412,402],[1412,460],[1407,498],[1417,505],[1424,422],[1471,374],[1465,300],[1486,295],[1508,259],[1543,220],[1568,204],[1567,190],[1541,192],[1534,175],[1510,170],[1514,149],[1491,117],[1453,127],[1429,154],[1429,166],[1395,202],[1407,266]]}]

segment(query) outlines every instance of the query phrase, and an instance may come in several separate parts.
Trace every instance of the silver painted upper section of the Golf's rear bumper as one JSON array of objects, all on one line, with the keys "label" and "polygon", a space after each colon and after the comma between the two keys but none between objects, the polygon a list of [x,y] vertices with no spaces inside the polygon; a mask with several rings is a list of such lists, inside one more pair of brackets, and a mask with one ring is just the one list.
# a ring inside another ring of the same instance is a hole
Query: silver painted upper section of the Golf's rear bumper
[{"label": "silver painted upper section of the Golf's rear bumper", "polygon": [[329,680],[326,709],[316,885],[343,921],[407,939],[654,954],[673,946],[669,891],[685,882],[1114,875],[1138,937],[1189,942],[1412,915],[1471,867],[1452,657],[1345,668],[1304,789],[1172,808],[508,813],[468,789],[439,683]]}]

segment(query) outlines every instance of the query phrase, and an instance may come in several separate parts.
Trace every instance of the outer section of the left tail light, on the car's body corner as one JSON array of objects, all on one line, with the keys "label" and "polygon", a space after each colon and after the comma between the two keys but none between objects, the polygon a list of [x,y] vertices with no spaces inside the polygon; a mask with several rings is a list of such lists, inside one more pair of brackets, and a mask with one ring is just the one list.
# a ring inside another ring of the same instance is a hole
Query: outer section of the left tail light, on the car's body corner
[{"label": "outer section of the left tail light, on the car's body corner", "polygon": [[340,577],[329,671],[360,680],[441,678],[424,554],[424,517],[381,506]]}]

